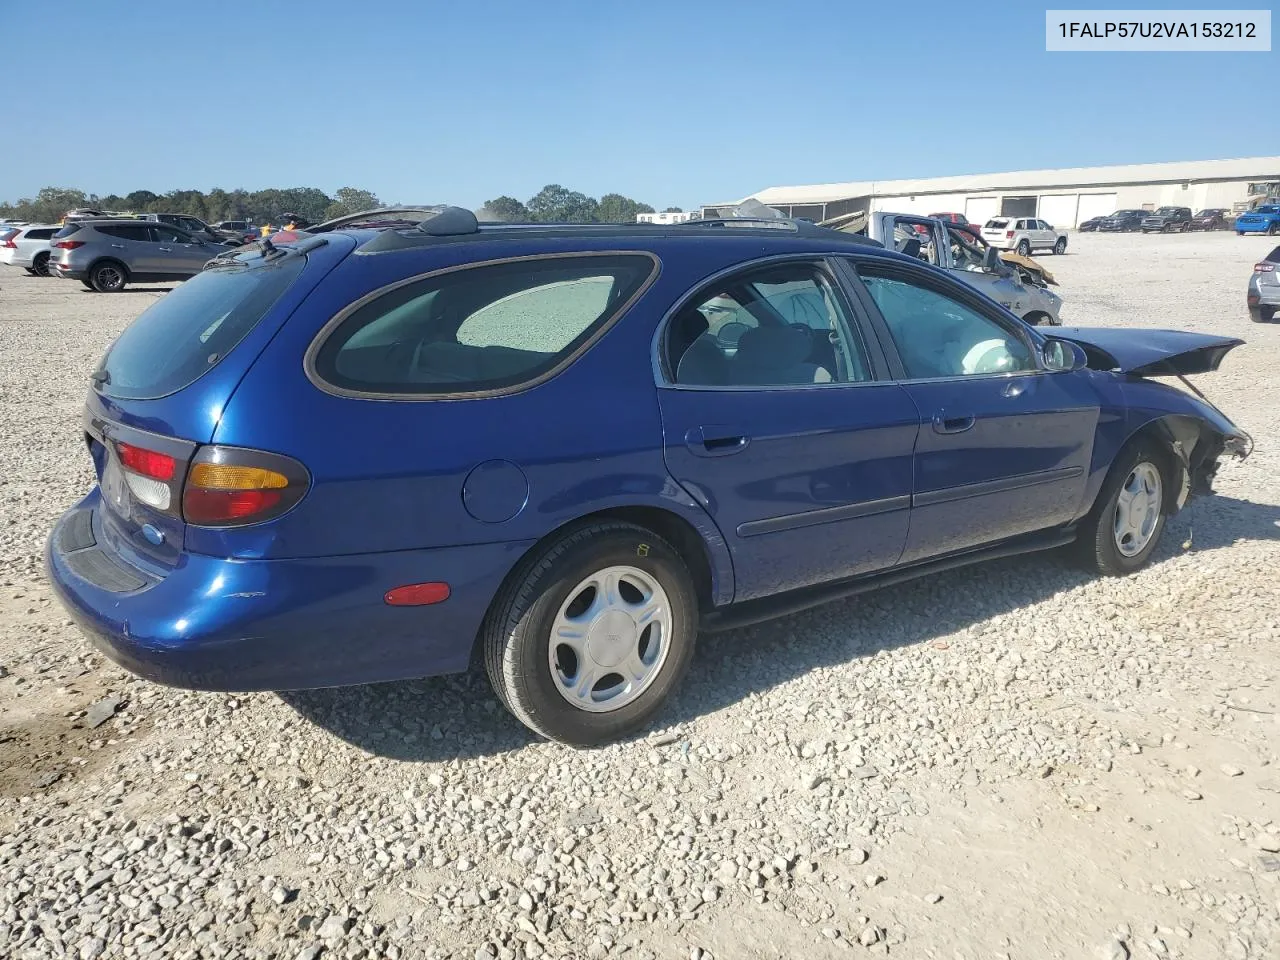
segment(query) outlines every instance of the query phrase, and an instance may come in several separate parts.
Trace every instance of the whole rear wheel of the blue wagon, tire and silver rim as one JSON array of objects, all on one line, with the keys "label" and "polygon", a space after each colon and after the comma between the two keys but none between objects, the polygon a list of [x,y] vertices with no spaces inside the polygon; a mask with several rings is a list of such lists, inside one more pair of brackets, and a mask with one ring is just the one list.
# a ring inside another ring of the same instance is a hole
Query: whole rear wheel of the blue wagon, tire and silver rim
[{"label": "whole rear wheel of the blue wagon, tire and silver rim", "polygon": [[526,561],[481,643],[489,681],[521,723],[591,746],[644,727],[687,671],[696,632],[698,598],[676,549],[603,521]]}]

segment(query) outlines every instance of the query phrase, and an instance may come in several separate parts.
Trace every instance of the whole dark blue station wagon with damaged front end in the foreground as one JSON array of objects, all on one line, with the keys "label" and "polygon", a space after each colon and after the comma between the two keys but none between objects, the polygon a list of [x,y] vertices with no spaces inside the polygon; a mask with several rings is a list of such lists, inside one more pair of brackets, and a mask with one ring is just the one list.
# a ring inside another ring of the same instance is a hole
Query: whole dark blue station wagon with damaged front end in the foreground
[{"label": "whole dark blue station wagon with damaged front end in the foreground", "polygon": [[229,251],[92,375],[58,594],[205,690],[463,671],[640,728],[699,630],[1073,545],[1101,573],[1249,439],[1152,379],[1240,340],[1030,328],[797,221],[320,228]]}]

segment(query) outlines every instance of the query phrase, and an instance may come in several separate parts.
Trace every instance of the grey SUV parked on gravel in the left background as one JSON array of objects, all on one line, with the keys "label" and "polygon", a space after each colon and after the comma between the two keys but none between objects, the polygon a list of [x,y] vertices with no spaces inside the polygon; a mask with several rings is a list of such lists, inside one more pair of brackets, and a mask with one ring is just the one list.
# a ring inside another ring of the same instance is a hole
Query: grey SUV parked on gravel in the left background
[{"label": "grey SUV parked on gravel in the left background", "polygon": [[227,250],[163,223],[81,220],[54,234],[50,275],[114,293],[127,283],[186,280]]}]

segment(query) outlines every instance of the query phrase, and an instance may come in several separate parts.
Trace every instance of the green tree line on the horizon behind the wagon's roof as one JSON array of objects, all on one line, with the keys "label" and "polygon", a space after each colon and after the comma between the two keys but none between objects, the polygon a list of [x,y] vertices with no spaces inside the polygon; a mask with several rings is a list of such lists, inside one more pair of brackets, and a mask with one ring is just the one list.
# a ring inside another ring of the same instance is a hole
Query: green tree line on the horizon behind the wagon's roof
[{"label": "green tree line on the horizon behind the wagon's roof", "polygon": [[[99,196],[70,187],[42,187],[35,197],[23,197],[12,204],[0,202],[0,218],[58,223],[69,210],[92,207],[129,214],[186,214],[198,216],[206,223],[219,220],[271,223],[287,212],[319,221],[381,205],[374,193],[356,187],[342,187],[333,196],[315,187],[273,187],[255,191],[228,191],[215,187],[207,192],[172,189],[168,193],[136,189],[124,196],[116,193]],[[668,211],[677,209],[667,207]],[[488,201],[477,212],[481,219],[503,221],[634,223],[636,214],[652,214],[653,207],[621,193],[605,193],[596,200],[558,183],[550,183],[527,201],[500,196]]]}]

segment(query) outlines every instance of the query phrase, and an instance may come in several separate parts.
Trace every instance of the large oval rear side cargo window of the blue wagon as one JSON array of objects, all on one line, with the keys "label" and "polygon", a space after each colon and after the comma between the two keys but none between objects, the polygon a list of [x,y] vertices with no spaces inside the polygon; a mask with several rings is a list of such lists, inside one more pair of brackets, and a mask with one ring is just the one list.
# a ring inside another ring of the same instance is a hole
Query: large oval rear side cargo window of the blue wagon
[{"label": "large oval rear side cargo window of the blue wagon", "polygon": [[346,317],[312,369],[340,390],[456,394],[527,384],[557,370],[654,273],[641,255],[543,257],[429,276]]}]

